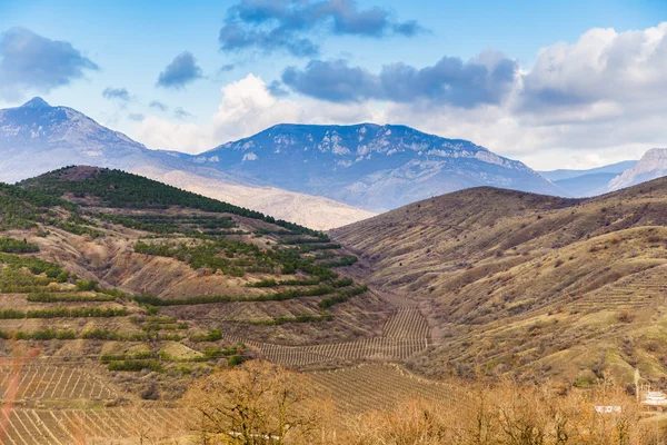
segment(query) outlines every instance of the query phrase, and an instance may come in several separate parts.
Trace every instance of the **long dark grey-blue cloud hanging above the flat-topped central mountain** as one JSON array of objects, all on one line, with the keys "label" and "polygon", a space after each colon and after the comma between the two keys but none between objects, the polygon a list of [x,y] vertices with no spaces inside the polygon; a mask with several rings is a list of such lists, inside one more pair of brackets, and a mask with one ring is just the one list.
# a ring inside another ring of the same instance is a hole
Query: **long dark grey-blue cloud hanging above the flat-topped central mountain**
[{"label": "long dark grey-blue cloud hanging above the flat-topped central mountain", "polygon": [[302,95],[335,102],[427,100],[440,106],[474,107],[500,102],[515,86],[518,69],[515,60],[502,55],[480,55],[468,62],[444,57],[420,69],[394,63],[378,75],[350,67],[345,60],[313,60],[303,70],[288,67],[282,82]]}]

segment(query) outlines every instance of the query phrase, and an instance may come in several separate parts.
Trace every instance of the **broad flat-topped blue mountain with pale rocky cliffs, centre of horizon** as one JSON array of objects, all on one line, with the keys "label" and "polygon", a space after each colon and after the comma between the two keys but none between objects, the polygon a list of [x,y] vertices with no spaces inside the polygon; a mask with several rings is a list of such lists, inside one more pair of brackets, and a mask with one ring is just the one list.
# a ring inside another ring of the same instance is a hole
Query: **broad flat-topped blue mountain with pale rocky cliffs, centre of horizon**
[{"label": "broad flat-topped blue mountain with pale rocky cliffs, centre of horizon", "polygon": [[370,210],[482,185],[566,194],[521,162],[405,126],[278,125],[190,159]]}]

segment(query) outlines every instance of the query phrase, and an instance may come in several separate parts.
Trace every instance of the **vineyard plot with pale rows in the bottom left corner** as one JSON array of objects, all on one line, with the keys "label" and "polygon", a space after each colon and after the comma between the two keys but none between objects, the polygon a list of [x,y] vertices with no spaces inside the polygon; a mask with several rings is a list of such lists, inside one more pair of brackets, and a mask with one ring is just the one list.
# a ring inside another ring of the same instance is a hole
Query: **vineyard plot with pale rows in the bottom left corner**
[{"label": "vineyard plot with pale rows in the bottom left corner", "polygon": [[172,408],[13,409],[9,415],[0,412],[0,443],[163,443],[187,434],[189,416]]}]

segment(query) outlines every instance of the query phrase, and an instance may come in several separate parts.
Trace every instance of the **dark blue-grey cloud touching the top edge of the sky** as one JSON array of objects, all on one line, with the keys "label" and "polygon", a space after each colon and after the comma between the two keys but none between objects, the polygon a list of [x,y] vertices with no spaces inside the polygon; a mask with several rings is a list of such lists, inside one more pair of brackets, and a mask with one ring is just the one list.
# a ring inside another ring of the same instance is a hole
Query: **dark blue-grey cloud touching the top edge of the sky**
[{"label": "dark blue-grey cloud touching the top edge of the sky", "polygon": [[382,38],[412,37],[422,28],[415,20],[395,20],[385,8],[359,9],[354,0],[241,0],[229,8],[219,41],[223,51],[283,50],[312,57],[319,52],[310,38],[313,31]]}]

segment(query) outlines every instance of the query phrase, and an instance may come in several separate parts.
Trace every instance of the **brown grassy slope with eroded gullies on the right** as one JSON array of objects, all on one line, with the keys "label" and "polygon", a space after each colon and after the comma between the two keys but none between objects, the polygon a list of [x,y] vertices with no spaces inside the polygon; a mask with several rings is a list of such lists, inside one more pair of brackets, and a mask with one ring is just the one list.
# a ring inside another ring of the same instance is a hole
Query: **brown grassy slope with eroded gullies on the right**
[{"label": "brown grassy slope with eroded gullies on the right", "polygon": [[588,200],[469,189],[332,235],[377,289],[428,301],[438,338],[422,370],[585,384],[667,375],[664,226],[667,179]]}]

